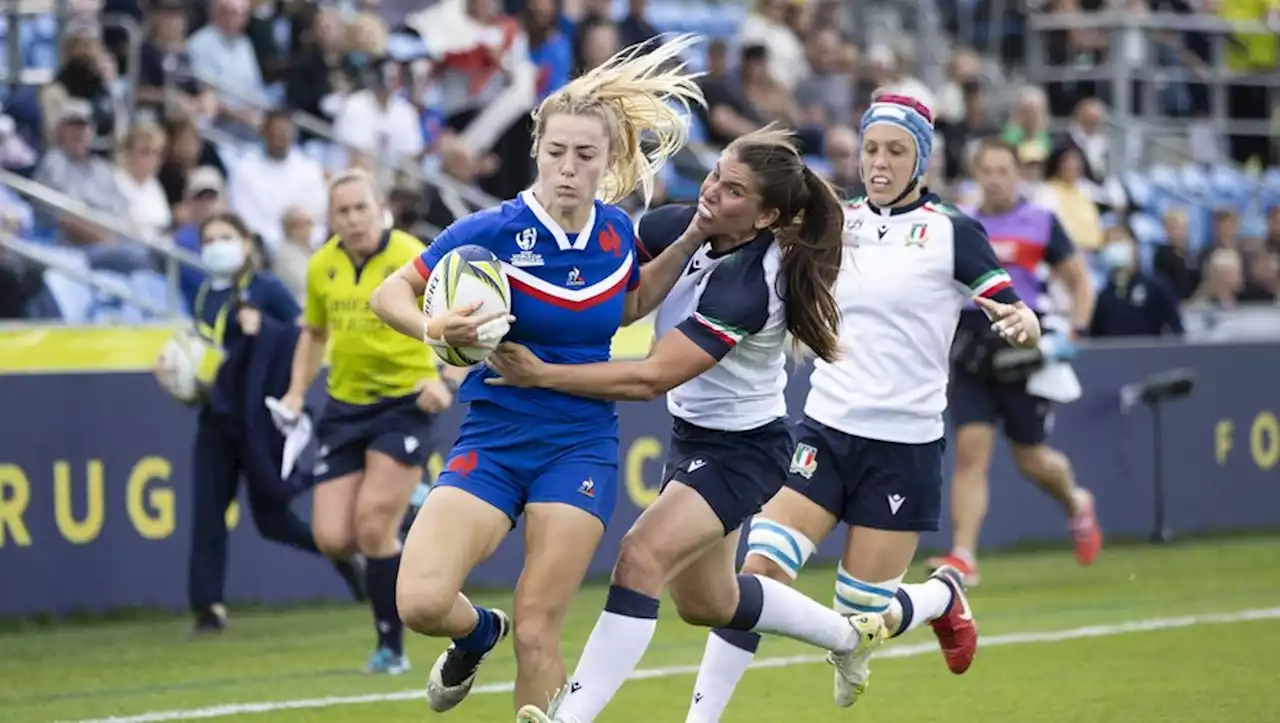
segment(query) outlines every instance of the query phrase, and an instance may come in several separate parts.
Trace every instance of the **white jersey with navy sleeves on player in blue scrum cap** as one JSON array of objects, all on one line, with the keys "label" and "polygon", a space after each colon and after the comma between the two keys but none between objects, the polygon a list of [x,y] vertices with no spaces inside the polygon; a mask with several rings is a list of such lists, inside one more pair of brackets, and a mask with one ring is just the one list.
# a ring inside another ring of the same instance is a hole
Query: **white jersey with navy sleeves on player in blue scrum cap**
[{"label": "white jersey with navy sleeves on player in blue scrum cap", "polygon": [[980,224],[932,193],[892,210],[847,202],[841,357],[814,361],[805,415],[867,439],[941,439],[951,342],[975,296],[1018,301]]}]

